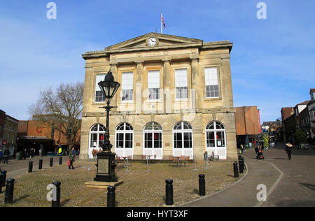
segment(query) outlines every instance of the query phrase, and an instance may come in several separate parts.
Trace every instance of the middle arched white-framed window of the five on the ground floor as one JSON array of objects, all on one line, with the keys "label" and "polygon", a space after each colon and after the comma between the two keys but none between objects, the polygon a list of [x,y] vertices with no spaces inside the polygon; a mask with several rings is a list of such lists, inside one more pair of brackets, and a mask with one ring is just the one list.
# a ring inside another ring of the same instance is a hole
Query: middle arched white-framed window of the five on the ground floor
[{"label": "middle arched white-framed window of the five on the ground floor", "polygon": [[162,159],[162,127],[156,122],[149,122],[144,127],[144,155]]}]

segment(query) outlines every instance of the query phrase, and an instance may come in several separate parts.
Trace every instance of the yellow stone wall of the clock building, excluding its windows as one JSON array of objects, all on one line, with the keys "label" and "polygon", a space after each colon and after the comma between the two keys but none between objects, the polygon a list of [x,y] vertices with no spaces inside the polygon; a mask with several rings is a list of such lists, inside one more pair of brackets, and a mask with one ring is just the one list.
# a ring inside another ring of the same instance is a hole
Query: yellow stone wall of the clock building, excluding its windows
[{"label": "yellow stone wall of the clock building, excluding its windows", "polygon": [[[90,128],[97,123],[106,125],[106,113],[100,108],[105,104],[94,102],[94,87],[96,75],[105,74],[111,69],[113,76],[120,83],[122,72],[134,73],[134,101],[121,101],[121,87],[111,101],[111,106],[118,106],[112,109],[110,117],[109,129],[113,151],[115,129],[118,124],[127,122],[134,129],[134,158],[140,158],[143,154],[144,127],[148,122],[158,122],[163,130],[163,159],[168,159],[173,155],[174,124],[186,121],[193,127],[194,155],[197,159],[203,159],[206,145],[204,130],[209,122],[218,120],[226,129],[228,158],[235,159],[237,157],[235,109],[230,71],[232,45],[223,42],[218,47],[212,47],[212,43],[195,46],[193,45],[195,42],[192,41],[190,46],[189,42],[186,42],[186,45],[181,42],[185,38],[162,34],[150,34],[150,36],[161,38],[158,45],[161,47],[160,50],[145,48],[148,36],[144,36],[143,41],[137,38],[139,43],[130,49],[128,46],[124,48],[119,45],[120,48],[112,51],[88,52],[83,55],[86,66],[81,153],[88,152]],[[207,99],[205,95],[204,68],[209,66],[218,67],[220,93],[218,99]],[[175,94],[175,69],[181,68],[188,70],[188,99],[185,101],[176,100]],[[160,71],[160,101],[148,101],[148,70]]]}]

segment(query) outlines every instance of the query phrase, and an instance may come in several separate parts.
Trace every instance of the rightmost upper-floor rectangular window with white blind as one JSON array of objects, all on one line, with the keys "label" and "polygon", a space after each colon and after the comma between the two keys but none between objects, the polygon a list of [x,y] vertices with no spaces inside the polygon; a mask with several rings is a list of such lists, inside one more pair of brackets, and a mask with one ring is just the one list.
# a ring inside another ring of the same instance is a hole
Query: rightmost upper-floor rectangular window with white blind
[{"label": "rightmost upper-floor rectangular window with white blind", "polygon": [[218,98],[218,68],[209,67],[204,69],[204,77],[206,80],[206,96],[207,98]]}]

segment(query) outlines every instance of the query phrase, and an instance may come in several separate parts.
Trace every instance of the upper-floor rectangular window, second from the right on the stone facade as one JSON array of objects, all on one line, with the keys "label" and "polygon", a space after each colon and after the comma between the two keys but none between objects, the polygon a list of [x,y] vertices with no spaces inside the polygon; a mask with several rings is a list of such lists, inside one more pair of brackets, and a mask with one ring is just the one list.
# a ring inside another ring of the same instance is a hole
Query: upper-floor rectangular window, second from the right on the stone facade
[{"label": "upper-floor rectangular window, second from the right on the stone facade", "polygon": [[175,70],[176,99],[188,99],[187,69]]}]

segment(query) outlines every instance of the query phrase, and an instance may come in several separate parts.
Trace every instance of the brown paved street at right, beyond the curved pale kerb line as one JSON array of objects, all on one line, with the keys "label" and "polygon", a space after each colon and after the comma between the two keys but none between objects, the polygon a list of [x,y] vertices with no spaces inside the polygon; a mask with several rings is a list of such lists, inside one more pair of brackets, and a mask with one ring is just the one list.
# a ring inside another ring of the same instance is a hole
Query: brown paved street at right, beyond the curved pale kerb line
[{"label": "brown paved street at right, beyond the curved pale kerb line", "polygon": [[[263,207],[315,206],[315,150],[292,150],[292,159],[284,151],[285,144],[265,150],[266,162],[274,164],[283,176],[267,198]],[[246,157],[255,157],[254,150],[247,150]]]}]

